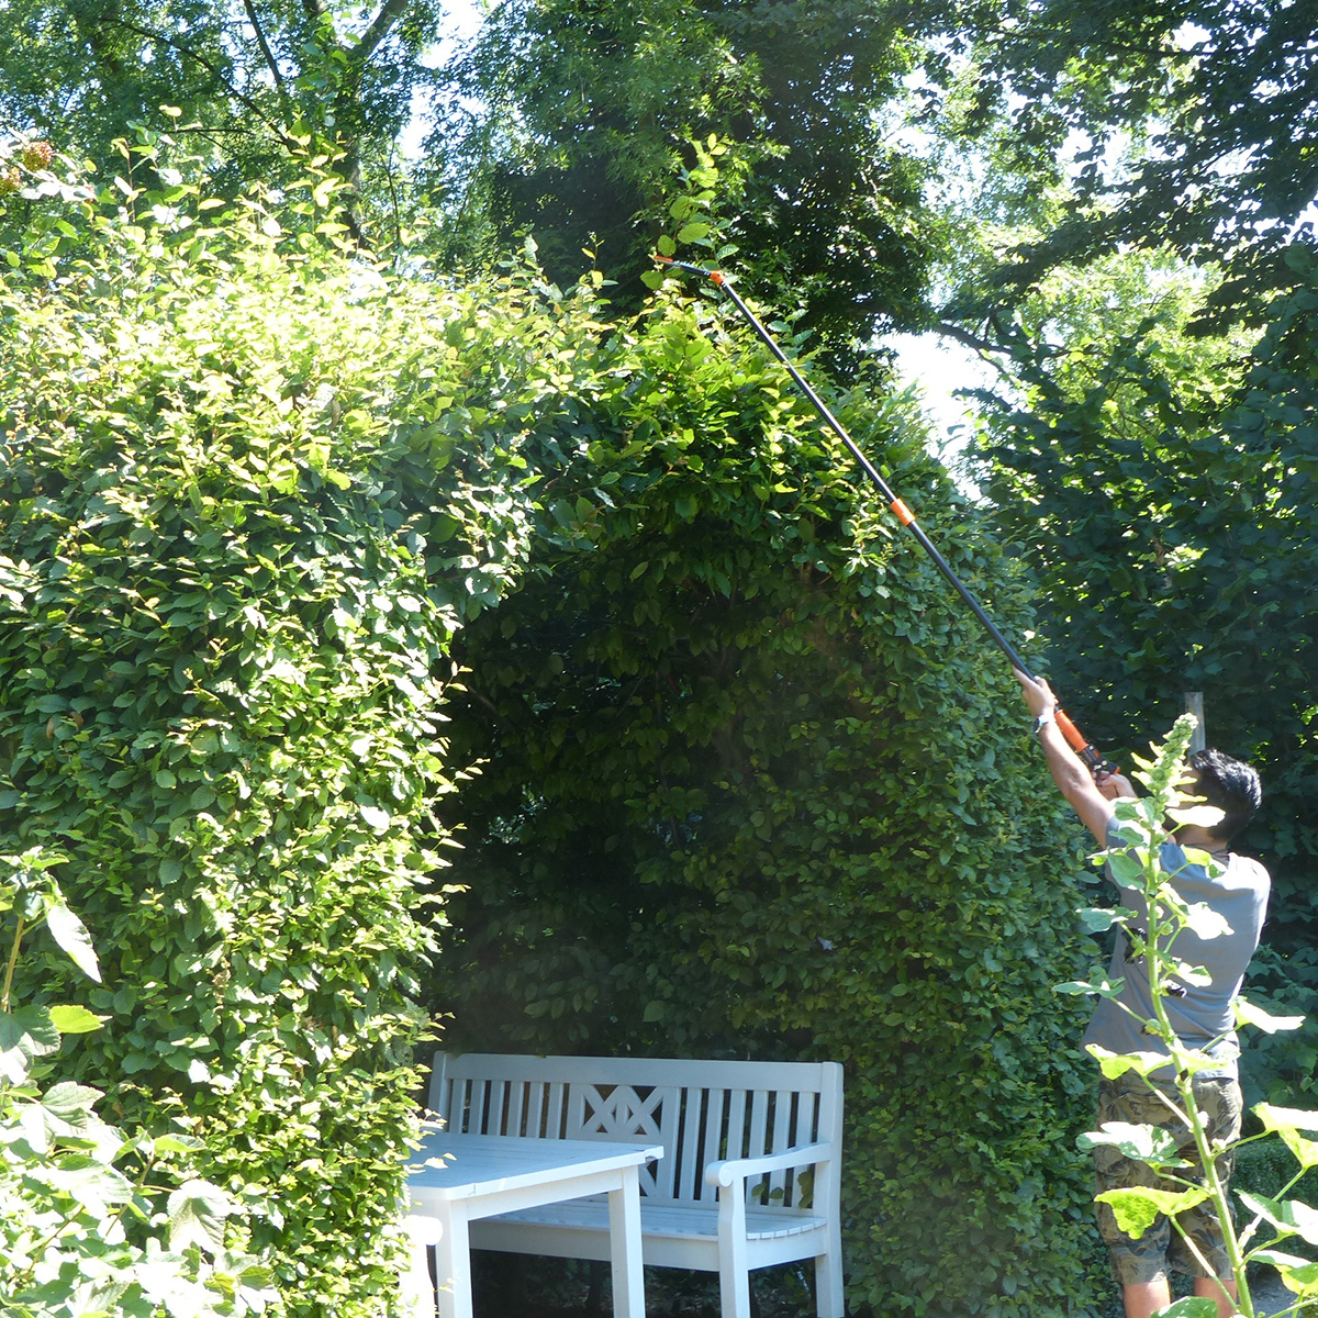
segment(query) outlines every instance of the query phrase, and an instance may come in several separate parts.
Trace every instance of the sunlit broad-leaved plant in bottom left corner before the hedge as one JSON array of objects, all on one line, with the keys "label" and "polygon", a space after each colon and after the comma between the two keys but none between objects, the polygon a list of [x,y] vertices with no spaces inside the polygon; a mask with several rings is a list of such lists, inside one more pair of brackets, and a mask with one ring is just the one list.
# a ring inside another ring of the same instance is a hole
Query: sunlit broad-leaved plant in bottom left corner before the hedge
[{"label": "sunlit broad-leaved plant in bottom left corner before the hedge", "polygon": [[125,1135],[96,1115],[98,1090],[43,1083],[65,1036],[104,1024],[82,1006],[20,1004],[13,995],[24,940],[42,927],[100,982],[91,938],[54,874],[63,861],[40,847],[0,857],[9,933],[0,983],[0,1306],[9,1318],[264,1313],[275,1298],[269,1269],[224,1249],[224,1219],[236,1205],[219,1186],[170,1168],[202,1140],[182,1131]]}]

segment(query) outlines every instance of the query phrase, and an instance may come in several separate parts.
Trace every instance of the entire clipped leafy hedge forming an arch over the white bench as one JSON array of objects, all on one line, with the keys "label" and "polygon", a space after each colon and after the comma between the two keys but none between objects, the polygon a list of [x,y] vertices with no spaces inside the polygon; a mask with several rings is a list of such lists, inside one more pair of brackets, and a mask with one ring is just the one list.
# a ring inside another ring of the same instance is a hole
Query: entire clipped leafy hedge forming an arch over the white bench
[{"label": "entire clipped leafy hedge forming an arch over the white bench", "polygon": [[[290,1313],[365,1318],[432,1014],[836,1057],[853,1305],[1078,1311],[1074,857],[1008,675],[778,369],[708,299],[339,252],[324,162],[211,207],[153,152],[0,285],[0,851],[67,857],[101,949],[17,969],[108,1017],[67,1077],[203,1141]],[[1019,634],[871,384],[844,415]]]}]

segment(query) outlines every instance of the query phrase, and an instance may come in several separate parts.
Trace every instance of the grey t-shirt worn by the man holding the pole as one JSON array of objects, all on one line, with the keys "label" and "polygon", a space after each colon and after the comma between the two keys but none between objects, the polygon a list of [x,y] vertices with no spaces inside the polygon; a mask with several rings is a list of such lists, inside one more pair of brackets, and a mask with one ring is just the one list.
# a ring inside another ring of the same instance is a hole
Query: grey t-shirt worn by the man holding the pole
[{"label": "grey t-shirt worn by the man holding the pole", "polygon": [[[1122,845],[1115,820],[1107,826],[1107,845]],[[1185,902],[1206,903],[1231,927],[1230,933],[1217,938],[1201,938],[1193,929],[1181,931],[1172,945],[1173,954],[1191,966],[1203,966],[1213,977],[1213,983],[1202,987],[1186,985],[1184,998],[1166,996],[1164,1003],[1168,1019],[1184,1044],[1206,1049],[1213,1040],[1219,1040],[1209,1052],[1220,1065],[1199,1074],[1235,1077],[1240,1045],[1236,1041],[1231,999],[1240,992],[1246,967],[1259,946],[1259,934],[1268,912],[1268,871],[1257,861],[1231,853],[1224,861],[1224,873],[1210,879],[1202,866],[1186,863],[1185,851],[1176,842],[1164,845],[1161,862],[1169,875],[1176,875],[1173,886]],[[1110,869],[1107,876],[1112,878]],[[1132,924],[1147,928],[1147,907],[1141,894],[1120,887],[1120,904],[1136,913]],[[1139,962],[1128,962],[1126,957],[1126,934],[1118,931],[1108,978],[1124,979],[1120,999],[1140,1017],[1149,1019],[1153,1016],[1153,1000],[1144,961],[1140,958]],[[1108,998],[1099,998],[1083,1043],[1098,1044],[1114,1053],[1166,1052],[1161,1040],[1143,1033],[1139,1024]]]}]

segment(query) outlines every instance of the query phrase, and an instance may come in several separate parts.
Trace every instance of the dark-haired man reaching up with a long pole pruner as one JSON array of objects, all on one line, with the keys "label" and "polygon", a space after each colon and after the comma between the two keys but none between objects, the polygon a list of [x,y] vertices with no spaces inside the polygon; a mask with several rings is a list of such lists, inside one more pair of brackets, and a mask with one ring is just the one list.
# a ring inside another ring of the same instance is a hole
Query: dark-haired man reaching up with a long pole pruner
[{"label": "dark-haired man reaching up with a long pole pruner", "polygon": [[[1019,671],[1016,679],[1035,716],[1035,731],[1058,791],[1101,846],[1120,845],[1114,829],[1112,801],[1119,796],[1133,796],[1131,784],[1119,774],[1091,776],[1057,728],[1057,700],[1048,683]],[[1210,1049],[1217,1065],[1194,1077],[1194,1098],[1209,1119],[1209,1137],[1230,1141],[1240,1133],[1242,1108],[1236,1073],[1239,1045],[1232,1028],[1231,999],[1240,991],[1246,967],[1259,945],[1269,883],[1268,871],[1257,861],[1236,855],[1228,844],[1249,822],[1263,800],[1263,791],[1259,775],[1248,764],[1220,751],[1199,751],[1190,757],[1189,763],[1195,778],[1193,793],[1220,809],[1223,817],[1211,829],[1190,824],[1174,829],[1174,841],[1164,846],[1161,862],[1169,874],[1176,874],[1177,891],[1189,902],[1206,902],[1223,916],[1231,932],[1203,940],[1190,929],[1182,931],[1176,940],[1176,954],[1189,965],[1203,966],[1213,982],[1207,986],[1186,985],[1184,995],[1168,998],[1165,1004],[1182,1043],[1209,1049],[1214,1040],[1219,1040]],[[1210,853],[1222,866],[1222,873],[1210,878],[1201,866],[1186,865],[1182,851],[1186,846]],[[1123,891],[1122,904],[1143,909],[1143,899],[1132,892]],[[1141,974],[1141,969],[1127,961],[1126,938],[1119,936],[1108,977],[1124,979],[1122,1000],[1141,1019],[1148,1019],[1153,1016],[1153,1007],[1148,977]],[[1098,1044],[1114,1053],[1165,1050],[1160,1040],[1141,1033],[1139,1025],[1107,998],[1099,999],[1083,1043]],[[1098,1123],[1132,1122],[1166,1127],[1185,1136],[1182,1156],[1197,1162],[1185,1123],[1168,1110],[1157,1093],[1157,1089],[1164,1089],[1174,1095],[1169,1077],[1170,1068],[1161,1075],[1155,1072],[1153,1085],[1133,1072],[1118,1079],[1104,1077],[1099,1081]],[[1126,1159],[1110,1145],[1094,1151],[1094,1164],[1099,1191],[1161,1184],[1147,1164]],[[1230,1174],[1228,1160],[1219,1162],[1219,1170],[1223,1176]],[[1166,1184],[1165,1188],[1177,1186]],[[1231,1318],[1236,1286],[1230,1280],[1231,1265],[1211,1205],[1191,1209],[1177,1220],[1210,1264],[1211,1276],[1205,1276],[1203,1265],[1165,1218],[1159,1218],[1139,1240],[1132,1240],[1118,1230],[1111,1209],[1106,1203],[1098,1205],[1099,1234],[1112,1256],[1112,1275],[1122,1286],[1127,1318],[1149,1318],[1172,1302],[1168,1267],[1193,1276],[1194,1293],[1215,1300],[1219,1318]]]}]

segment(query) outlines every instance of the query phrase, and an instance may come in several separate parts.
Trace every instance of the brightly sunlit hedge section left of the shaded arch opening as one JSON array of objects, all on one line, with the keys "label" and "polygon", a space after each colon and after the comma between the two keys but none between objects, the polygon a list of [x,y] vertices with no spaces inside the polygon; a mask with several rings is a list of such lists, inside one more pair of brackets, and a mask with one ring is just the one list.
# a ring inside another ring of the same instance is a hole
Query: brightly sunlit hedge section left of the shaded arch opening
[{"label": "brightly sunlit hedge section left of the shaded arch opening", "polygon": [[45,239],[0,282],[0,851],[69,857],[104,971],[38,940],[20,987],[111,1016],[61,1070],[204,1139],[290,1313],[378,1314],[449,645],[523,554],[519,416],[589,330],[529,277],[340,254],[315,171],[277,219],[152,165],[165,192],[22,199]]}]

